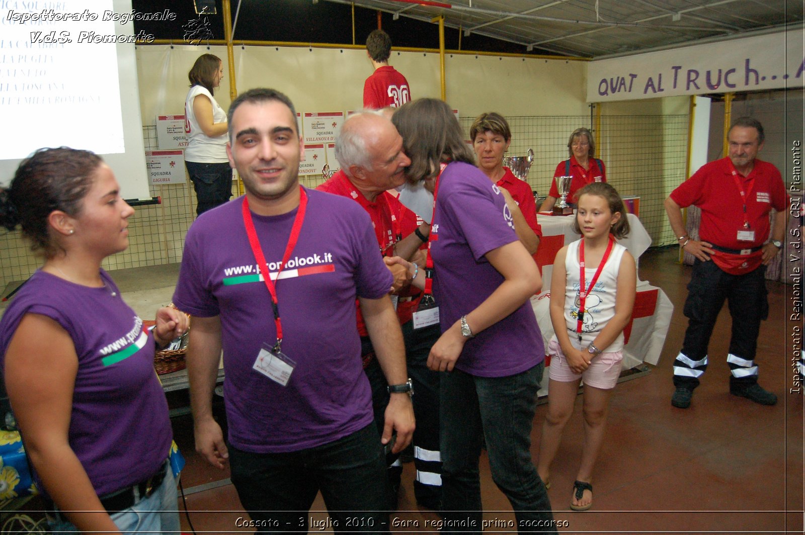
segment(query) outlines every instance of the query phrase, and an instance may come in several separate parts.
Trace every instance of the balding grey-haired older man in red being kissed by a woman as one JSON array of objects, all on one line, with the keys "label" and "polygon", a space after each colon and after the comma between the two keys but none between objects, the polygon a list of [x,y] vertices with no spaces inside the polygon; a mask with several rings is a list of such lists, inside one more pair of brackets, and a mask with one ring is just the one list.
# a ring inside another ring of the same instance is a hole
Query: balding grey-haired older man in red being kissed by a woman
[{"label": "balding grey-haired older man in red being kissed by a woman", "polygon": [[[410,165],[403,152],[403,138],[382,111],[363,111],[350,116],[336,139],[336,158],[341,170],[317,189],[355,200],[372,219],[380,253],[384,256],[411,258],[424,247],[430,226],[391,195],[405,181],[405,168]],[[405,236],[405,238],[403,238]],[[427,369],[427,356],[440,335],[439,325],[415,329],[412,314],[419,305],[419,290],[410,289],[407,271],[397,273],[390,266],[398,295],[398,318],[403,326],[408,370],[417,429],[414,434],[414,456],[417,477],[414,482],[416,500],[429,508],[440,507],[441,458],[439,451],[439,375]],[[366,335],[360,308],[357,327],[361,335],[364,370],[372,385],[375,423],[382,431],[384,411],[390,391],[383,377],[374,348]],[[390,390],[392,389],[392,390]],[[389,480],[392,488],[390,507],[396,508],[402,466],[390,458]]]}]

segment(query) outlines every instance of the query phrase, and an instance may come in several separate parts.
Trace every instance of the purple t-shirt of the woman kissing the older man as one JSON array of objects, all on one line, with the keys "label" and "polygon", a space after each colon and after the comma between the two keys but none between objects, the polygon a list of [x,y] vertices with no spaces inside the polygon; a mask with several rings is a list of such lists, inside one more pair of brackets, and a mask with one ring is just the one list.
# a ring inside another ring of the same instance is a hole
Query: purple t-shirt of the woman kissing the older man
[{"label": "purple t-shirt of the woman kissing the older man", "polygon": [[[477,167],[450,163],[439,179],[431,253],[433,294],[442,331],[481,304],[503,276],[485,254],[517,241],[506,200]],[[506,377],[545,358],[543,336],[526,300],[506,318],[467,340],[456,368],[480,377]]]}]

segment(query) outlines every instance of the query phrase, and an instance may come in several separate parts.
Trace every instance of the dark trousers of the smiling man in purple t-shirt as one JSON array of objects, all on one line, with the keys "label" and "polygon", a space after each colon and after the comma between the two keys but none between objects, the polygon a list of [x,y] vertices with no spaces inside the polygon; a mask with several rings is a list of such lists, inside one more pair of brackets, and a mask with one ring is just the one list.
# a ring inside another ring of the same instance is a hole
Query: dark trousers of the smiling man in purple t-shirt
[{"label": "dark trousers of the smiling man in purple t-shirt", "polygon": [[[229,447],[232,483],[257,533],[308,532],[321,491],[336,532],[387,533],[385,461],[374,426],[289,453]],[[314,529],[319,529],[314,527]]]}]

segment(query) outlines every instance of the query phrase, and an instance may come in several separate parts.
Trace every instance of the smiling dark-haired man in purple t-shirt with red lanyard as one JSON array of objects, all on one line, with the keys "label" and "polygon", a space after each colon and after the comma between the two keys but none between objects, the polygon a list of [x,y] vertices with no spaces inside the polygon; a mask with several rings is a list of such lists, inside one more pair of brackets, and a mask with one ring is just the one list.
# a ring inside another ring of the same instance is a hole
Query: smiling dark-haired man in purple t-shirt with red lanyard
[{"label": "smiling dark-haired man in purple t-shirt with red lanyard", "polygon": [[[381,442],[394,430],[392,451],[406,447],[414,415],[409,394],[392,393],[378,442],[356,298],[388,383],[403,385],[407,371],[369,217],[352,200],[299,186],[301,137],[282,93],[252,89],[233,101],[227,153],[246,195],[192,224],[174,295],[193,316],[196,450],[213,466],[229,460],[262,529],[307,532],[321,491],[336,530],[387,531]],[[229,445],[211,406],[221,348]]]}]

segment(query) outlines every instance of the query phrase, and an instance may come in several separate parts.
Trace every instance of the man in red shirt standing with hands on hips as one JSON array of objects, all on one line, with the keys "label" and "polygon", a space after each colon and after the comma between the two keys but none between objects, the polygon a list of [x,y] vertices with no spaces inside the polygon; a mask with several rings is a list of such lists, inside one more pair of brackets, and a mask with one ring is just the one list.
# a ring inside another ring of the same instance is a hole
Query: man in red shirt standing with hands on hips
[{"label": "man in red shirt standing with hands on hips", "polygon": [[[687,409],[693,389],[707,369],[707,348],[725,300],[733,317],[727,363],[729,392],[762,405],[774,405],[777,396],[758,385],[760,322],[769,313],[766,265],[782,249],[788,223],[789,197],[777,167],[758,160],[763,126],[741,117],[727,134],[729,157],[708,163],[671,192],[665,209],[679,245],[696,260],[693,264],[684,314],[689,322],[682,351],[674,361],[671,405]],[[701,240],[687,236],[681,208],[701,209]],[[774,233],[769,239],[769,212],[774,208]]]}]

